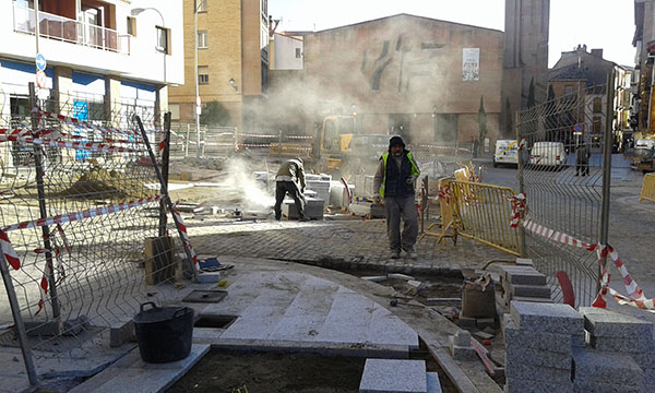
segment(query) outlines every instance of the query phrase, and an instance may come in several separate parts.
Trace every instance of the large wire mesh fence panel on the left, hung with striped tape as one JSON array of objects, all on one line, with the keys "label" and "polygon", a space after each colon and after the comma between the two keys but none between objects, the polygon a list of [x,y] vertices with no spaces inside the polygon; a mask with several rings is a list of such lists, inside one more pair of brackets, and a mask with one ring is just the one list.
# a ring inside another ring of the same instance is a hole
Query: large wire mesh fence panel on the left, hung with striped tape
[{"label": "large wire mesh fence panel on the left, hung with striped tape", "polygon": [[[154,107],[50,93],[31,96],[31,116],[3,112],[0,126],[0,242],[10,269],[0,343],[28,349],[37,371],[107,346],[110,326],[141,302],[172,299],[172,282],[184,274],[134,122],[142,117],[148,140],[162,146]],[[9,99],[0,93],[3,108]]]}]

